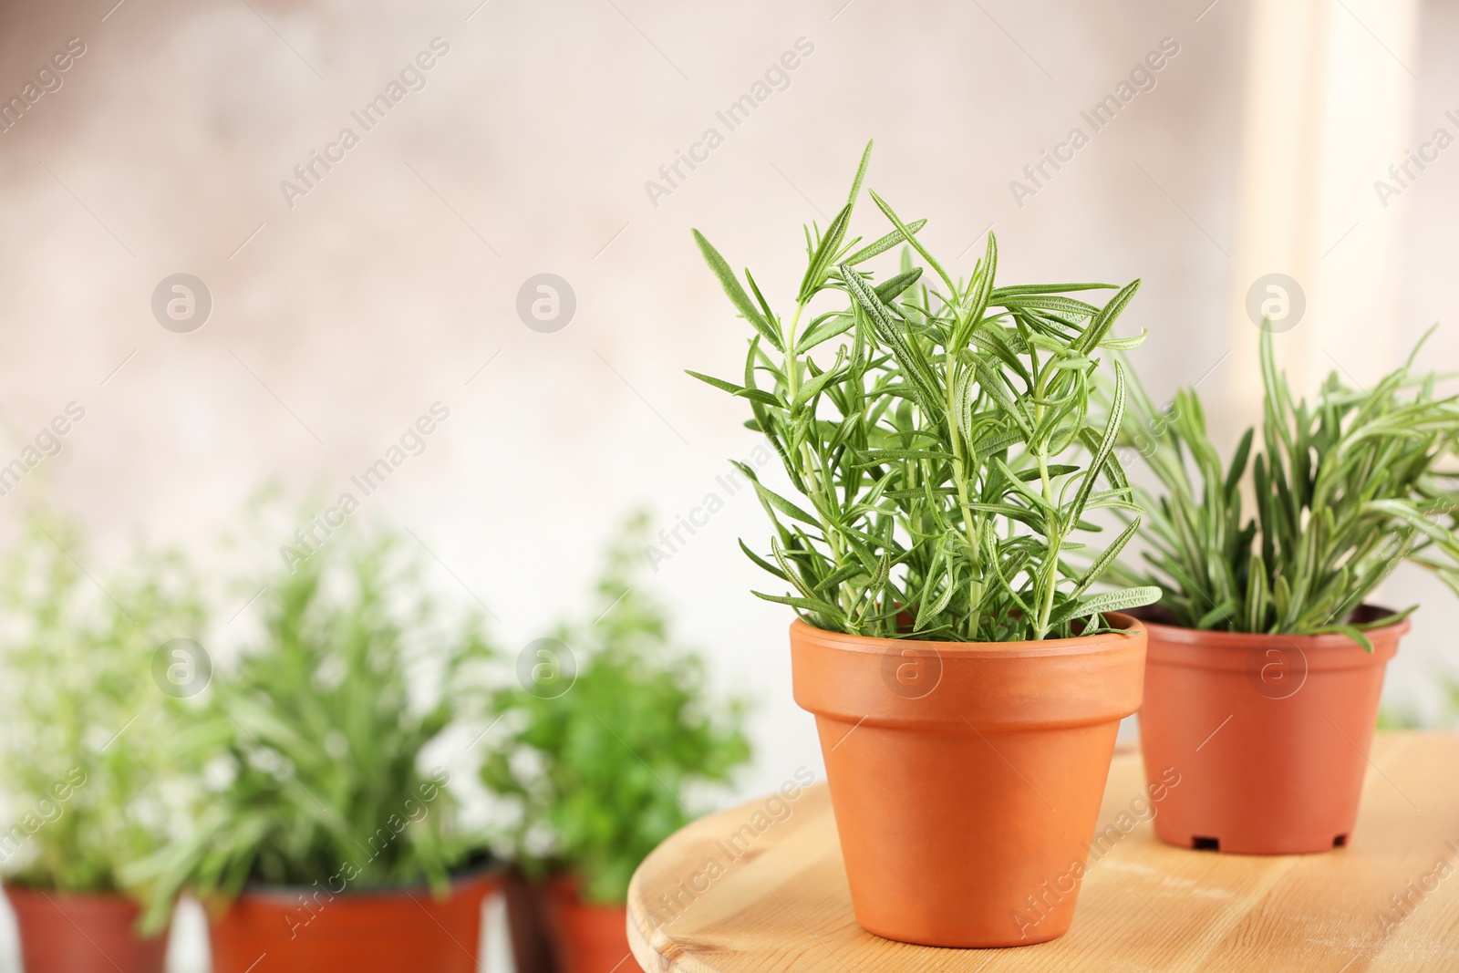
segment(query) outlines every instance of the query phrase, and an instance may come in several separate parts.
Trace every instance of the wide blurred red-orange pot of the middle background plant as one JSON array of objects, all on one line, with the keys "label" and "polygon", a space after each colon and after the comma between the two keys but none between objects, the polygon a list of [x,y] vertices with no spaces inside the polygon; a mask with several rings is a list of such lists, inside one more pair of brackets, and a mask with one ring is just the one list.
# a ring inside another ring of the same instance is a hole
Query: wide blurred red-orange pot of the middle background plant
[{"label": "wide blurred red-orange pot of the middle background plant", "polygon": [[499,885],[481,871],[442,900],[425,885],[248,887],[212,925],[213,973],[477,973],[481,903]]}]

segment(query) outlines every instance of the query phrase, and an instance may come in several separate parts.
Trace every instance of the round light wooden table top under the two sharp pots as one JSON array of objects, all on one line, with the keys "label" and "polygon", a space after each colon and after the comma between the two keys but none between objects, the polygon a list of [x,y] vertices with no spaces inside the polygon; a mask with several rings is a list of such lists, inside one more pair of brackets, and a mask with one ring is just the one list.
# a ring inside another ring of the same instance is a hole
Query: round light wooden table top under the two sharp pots
[{"label": "round light wooden table top under the two sharp pots", "polygon": [[[1370,764],[1347,848],[1193,852],[1138,821],[1091,864],[1068,935],[1011,950],[935,950],[861,929],[830,792],[817,785],[664,842],[629,888],[629,939],[652,973],[1455,973],[1459,737],[1379,734]],[[1121,814],[1142,794],[1139,753],[1118,753],[1100,829],[1128,824]]]}]

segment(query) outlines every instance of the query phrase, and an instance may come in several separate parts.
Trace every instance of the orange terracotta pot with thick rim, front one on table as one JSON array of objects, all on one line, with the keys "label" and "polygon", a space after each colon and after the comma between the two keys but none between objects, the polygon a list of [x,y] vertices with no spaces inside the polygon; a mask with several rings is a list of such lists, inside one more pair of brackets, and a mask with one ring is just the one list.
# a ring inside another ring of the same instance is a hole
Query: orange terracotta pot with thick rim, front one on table
[{"label": "orange terracotta pot with thick rim, front one on table", "polygon": [[867,639],[791,626],[856,922],[889,939],[1064,935],[1145,632],[1045,642]]}]

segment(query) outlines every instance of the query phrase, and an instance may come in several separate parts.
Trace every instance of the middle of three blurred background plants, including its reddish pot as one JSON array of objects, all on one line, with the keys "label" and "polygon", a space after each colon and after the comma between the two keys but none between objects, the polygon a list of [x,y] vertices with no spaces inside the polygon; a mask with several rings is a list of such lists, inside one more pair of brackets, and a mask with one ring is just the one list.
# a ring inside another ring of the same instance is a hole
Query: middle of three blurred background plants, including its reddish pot
[{"label": "middle of three blurred background plants, including its reddish pot", "polygon": [[476,973],[496,875],[425,751],[481,691],[477,626],[438,620],[390,534],[337,532],[270,582],[263,639],[191,731],[193,834],[137,875],[210,907],[214,973]]}]

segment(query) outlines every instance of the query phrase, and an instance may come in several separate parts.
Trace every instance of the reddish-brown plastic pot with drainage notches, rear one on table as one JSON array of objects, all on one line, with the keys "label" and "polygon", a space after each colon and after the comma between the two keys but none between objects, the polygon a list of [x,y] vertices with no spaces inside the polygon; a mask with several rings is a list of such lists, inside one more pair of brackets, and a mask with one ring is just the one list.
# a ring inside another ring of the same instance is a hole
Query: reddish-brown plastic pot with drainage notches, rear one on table
[{"label": "reddish-brown plastic pot with drainage notches, rear one on table", "polygon": [[[1363,607],[1355,620],[1386,614]],[[1199,632],[1147,620],[1145,775],[1180,775],[1156,834],[1242,855],[1345,845],[1383,671],[1408,624],[1369,632],[1369,654],[1342,635]]]}]

